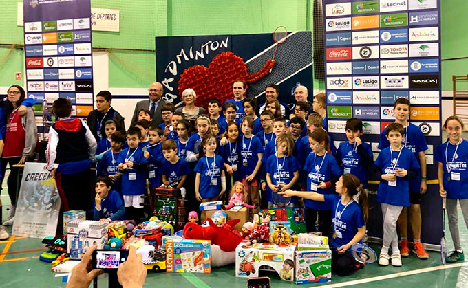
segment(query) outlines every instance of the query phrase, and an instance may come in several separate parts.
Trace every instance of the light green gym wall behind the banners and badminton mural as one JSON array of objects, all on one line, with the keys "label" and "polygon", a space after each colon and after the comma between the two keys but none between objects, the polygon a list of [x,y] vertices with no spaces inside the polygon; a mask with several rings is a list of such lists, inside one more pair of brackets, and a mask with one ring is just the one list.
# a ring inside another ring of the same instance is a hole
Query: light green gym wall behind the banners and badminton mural
[{"label": "light green gym wall behind the banners and badminton mural", "polygon": [[[442,58],[468,56],[465,0],[442,2]],[[109,52],[109,87],[147,87],[155,78],[155,36],[270,33],[312,29],[313,0],[92,0],[92,7],[120,10],[120,32],[93,32],[93,47]],[[17,0],[0,0],[0,86],[12,85],[23,71],[23,27],[17,26]],[[309,10],[309,12],[308,12]],[[17,46],[4,45],[16,44]],[[138,49],[122,51],[116,49]],[[148,51],[150,50],[150,51]],[[443,90],[451,75],[468,74],[468,60],[444,60]],[[315,89],[323,82],[314,81]],[[21,84],[21,83],[19,83]]]}]

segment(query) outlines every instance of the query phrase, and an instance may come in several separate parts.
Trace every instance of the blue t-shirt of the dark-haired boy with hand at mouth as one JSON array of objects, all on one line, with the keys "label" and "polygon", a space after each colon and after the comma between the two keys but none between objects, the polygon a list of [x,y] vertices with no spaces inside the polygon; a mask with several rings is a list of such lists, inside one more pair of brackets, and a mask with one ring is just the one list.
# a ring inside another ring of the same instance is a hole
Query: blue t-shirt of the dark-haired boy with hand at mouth
[{"label": "blue t-shirt of the dark-haired boy with hand at mouth", "polygon": [[[364,153],[364,155],[360,154]],[[350,142],[342,142],[337,149],[337,159],[341,159],[341,172],[352,174],[359,178],[364,187],[368,186],[367,164],[363,163],[363,157],[373,159],[374,154],[368,143],[362,142],[359,146],[354,146]]]}]

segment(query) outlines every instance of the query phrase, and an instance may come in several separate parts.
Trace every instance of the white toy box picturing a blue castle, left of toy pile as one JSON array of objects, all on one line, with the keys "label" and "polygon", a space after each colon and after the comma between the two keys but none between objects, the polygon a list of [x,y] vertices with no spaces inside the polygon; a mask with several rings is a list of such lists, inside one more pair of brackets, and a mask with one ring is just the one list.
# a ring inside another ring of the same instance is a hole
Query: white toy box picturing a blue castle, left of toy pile
[{"label": "white toy box picturing a blue castle, left of toy pile", "polygon": [[70,259],[81,259],[94,244],[103,249],[107,243],[107,222],[74,220],[68,223],[67,252]]}]

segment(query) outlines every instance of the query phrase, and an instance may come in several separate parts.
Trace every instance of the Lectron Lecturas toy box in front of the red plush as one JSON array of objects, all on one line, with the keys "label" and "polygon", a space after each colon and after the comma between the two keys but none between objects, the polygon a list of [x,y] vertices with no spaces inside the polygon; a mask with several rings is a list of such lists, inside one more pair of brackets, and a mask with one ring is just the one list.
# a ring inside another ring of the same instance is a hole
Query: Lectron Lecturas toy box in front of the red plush
[{"label": "Lectron Lecturas toy box in front of the red plush", "polygon": [[167,273],[210,273],[211,241],[166,238]]}]

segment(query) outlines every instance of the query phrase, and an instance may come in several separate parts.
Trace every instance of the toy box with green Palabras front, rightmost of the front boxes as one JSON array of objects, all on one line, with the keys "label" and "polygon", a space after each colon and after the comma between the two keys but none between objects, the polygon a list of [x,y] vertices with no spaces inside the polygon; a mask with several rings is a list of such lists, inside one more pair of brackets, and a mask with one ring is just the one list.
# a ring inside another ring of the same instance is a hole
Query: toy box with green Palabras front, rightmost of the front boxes
[{"label": "toy box with green Palabras front, rightmost of the front boxes", "polygon": [[325,283],[332,280],[332,251],[296,251],[296,284]]}]

